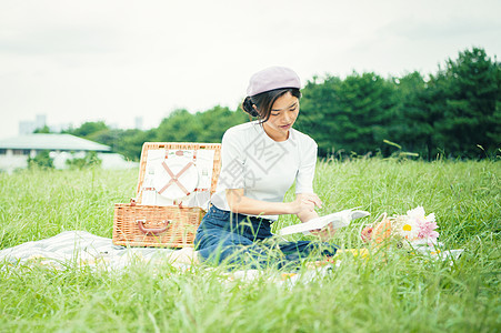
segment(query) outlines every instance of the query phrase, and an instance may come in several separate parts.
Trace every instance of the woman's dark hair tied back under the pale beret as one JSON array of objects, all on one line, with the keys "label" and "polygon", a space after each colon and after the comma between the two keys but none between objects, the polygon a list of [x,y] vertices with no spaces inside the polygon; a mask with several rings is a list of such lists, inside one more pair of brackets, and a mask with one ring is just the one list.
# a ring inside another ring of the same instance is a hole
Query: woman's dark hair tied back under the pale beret
[{"label": "woman's dark hair tied back under the pale beret", "polygon": [[[273,103],[288,92],[298,99],[301,98],[301,92],[297,88],[274,89],[254,94],[253,97],[247,97],[242,102],[242,109],[251,117],[258,117],[261,123],[267,122],[270,119]],[[258,110],[254,109],[254,105]]]}]

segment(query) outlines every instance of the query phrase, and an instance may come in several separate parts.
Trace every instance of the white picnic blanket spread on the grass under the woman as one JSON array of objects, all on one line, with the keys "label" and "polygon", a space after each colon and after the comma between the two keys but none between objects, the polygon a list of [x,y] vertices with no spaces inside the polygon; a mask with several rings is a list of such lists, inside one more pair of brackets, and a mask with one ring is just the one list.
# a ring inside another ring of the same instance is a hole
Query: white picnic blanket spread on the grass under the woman
[{"label": "white picnic blanket spread on the grass under the woman", "polygon": [[[89,266],[120,272],[132,263],[164,263],[168,255],[176,250],[158,248],[126,248],[113,245],[111,239],[93,235],[86,231],[64,231],[49,239],[27,242],[10,249],[0,250],[0,263],[16,265],[18,263],[40,262],[54,269],[71,266]],[[454,260],[462,250],[450,250],[441,253],[431,253],[431,259]],[[452,263],[452,262],[451,262]],[[339,266],[341,261],[335,261]],[[188,270],[188,264],[177,264],[181,270]],[[314,268],[302,273],[280,273],[268,278],[278,284],[292,286],[297,283],[309,283],[329,274],[332,264]],[[223,281],[253,281],[262,275],[261,270],[244,270],[223,274]]]}]

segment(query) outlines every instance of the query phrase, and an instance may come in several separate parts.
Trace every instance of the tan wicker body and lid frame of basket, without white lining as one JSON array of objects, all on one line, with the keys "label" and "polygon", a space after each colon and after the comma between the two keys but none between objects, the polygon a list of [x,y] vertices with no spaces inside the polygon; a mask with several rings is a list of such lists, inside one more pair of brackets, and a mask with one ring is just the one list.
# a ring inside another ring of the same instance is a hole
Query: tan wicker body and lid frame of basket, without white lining
[{"label": "tan wicker body and lid frame of basket, without white lining", "polygon": [[184,248],[193,246],[197,228],[206,213],[201,208],[178,205],[142,205],[148,152],[151,150],[198,151],[214,150],[210,193],[216,191],[220,172],[221,144],[147,142],[142,147],[137,188],[137,201],[116,203],[113,216],[113,244],[124,246]]}]

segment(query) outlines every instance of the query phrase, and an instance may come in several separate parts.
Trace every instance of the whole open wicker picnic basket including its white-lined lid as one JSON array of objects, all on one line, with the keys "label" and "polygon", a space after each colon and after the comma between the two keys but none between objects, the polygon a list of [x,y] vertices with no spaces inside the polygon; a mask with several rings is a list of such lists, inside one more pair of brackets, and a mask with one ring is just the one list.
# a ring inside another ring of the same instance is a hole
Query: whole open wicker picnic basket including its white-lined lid
[{"label": "whole open wicker picnic basket including its white-lined lid", "polygon": [[[181,164],[179,160],[182,161]],[[193,246],[197,228],[206,213],[204,208],[197,202],[197,195],[208,199],[216,191],[220,160],[219,143],[144,143],[137,198],[130,203],[114,205],[113,244]],[[177,161],[178,164],[169,164],[169,161]],[[203,161],[206,169],[200,171]],[[153,163],[157,169],[151,167]],[[178,170],[172,165],[179,167]],[[162,172],[163,180],[160,179],[160,183],[158,176],[156,183],[152,183],[149,178],[151,170],[157,170],[157,175]],[[204,176],[204,182],[198,178],[199,172],[201,178]],[[179,194],[183,198],[162,198],[161,194],[168,191],[176,192],[171,193],[173,196]]]}]

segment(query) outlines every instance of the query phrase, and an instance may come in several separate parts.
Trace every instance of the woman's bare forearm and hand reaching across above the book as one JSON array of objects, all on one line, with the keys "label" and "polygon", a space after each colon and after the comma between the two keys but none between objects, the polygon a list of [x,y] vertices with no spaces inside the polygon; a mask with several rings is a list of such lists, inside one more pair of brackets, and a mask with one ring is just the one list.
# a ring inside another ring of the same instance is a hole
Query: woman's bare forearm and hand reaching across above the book
[{"label": "woman's bare forearm and hand reaching across above the book", "polygon": [[314,206],[322,204],[317,194],[298,194],[295,200],[291,202],[267,202],[243,195],[243,189],[227,190],[227,201],[230,210],[234,213],[251,215],[297,214],[302,222],[318,216]]}]

